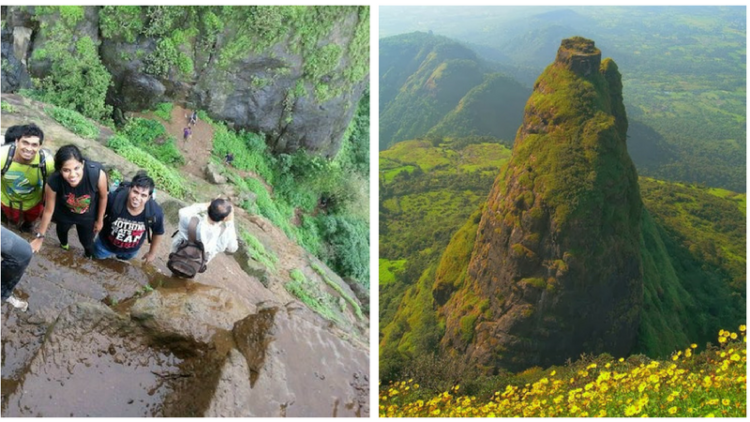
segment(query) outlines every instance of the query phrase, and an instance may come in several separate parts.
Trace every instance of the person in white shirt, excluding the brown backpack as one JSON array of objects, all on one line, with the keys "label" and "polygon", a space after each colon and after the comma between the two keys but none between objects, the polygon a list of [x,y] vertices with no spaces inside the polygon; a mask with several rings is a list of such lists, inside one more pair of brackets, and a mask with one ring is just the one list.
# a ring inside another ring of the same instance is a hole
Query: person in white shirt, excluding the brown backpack
[{"label": "person in white shirt, excluding the brown backpack", "polygon": [[234,209],[225,199],[193,204],[180,209],[179,232],[172,242],[172,252],[188,238],[190,219],[198,217],[196,240],[203,243],[206,263],[219,252],[232,253],[237,250],[237,233],[234,228]]}]

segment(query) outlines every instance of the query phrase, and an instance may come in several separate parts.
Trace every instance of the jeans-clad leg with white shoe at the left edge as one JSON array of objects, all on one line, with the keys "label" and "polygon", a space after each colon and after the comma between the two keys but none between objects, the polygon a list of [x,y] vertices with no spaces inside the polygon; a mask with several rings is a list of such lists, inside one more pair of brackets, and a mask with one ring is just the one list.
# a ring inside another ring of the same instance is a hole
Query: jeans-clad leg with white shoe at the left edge
[{"label": "jeans-clad leg with white shoe at the left edge", "polygon": [[31,262],[31,246],[21,236],[13,233],[5,227],[0,227],[2,231],[2,300],[8,302],[16,309],[26,312],[29,304],[13,295],[13,289],[16,287],[21,277],[23,277],[26,267]]}]

